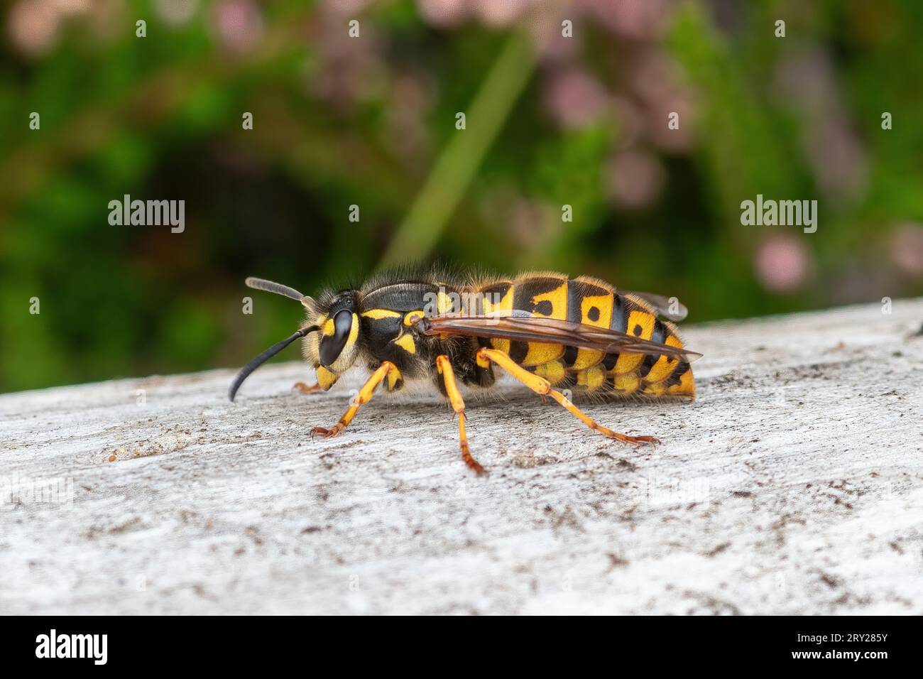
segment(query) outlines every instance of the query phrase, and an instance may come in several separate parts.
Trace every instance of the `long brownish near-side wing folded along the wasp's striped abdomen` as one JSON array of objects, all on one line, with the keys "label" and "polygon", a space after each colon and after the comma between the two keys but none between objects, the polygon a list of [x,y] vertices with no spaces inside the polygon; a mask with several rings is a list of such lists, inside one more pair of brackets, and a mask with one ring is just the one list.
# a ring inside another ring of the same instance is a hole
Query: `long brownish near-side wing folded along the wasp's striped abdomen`
[{"label": "long brownish near-side wing folded along the wasp's striped abdomen", "polygon": [[685,358],[691,361],[701,354],[677,346],[641,339],[617,330],[593,325],[558,321],[544,316],[459,316],[446,314],[423,318],[417,323],[421,333],[461,334],[469,337],[496,337],[518,342],[541,342],[551,345],[577,346],[607,354],[647,354]]}]

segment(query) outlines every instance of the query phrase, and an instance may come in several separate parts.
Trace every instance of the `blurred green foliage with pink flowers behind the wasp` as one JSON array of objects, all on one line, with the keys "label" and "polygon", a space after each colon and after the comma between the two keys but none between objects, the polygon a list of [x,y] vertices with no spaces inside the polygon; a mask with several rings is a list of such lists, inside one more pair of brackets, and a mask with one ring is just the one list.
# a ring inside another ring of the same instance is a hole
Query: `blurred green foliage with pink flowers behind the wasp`
[{"label": "blurred green foliage with pink flowers behind the wasp", "polygon": [[[2,390],[236,366],[300,320],[248,274],[555,269],[689,321],[923,292],[915,0],[66,6],[0,9]],[[817,233],[741,225],[758,193]]]}]

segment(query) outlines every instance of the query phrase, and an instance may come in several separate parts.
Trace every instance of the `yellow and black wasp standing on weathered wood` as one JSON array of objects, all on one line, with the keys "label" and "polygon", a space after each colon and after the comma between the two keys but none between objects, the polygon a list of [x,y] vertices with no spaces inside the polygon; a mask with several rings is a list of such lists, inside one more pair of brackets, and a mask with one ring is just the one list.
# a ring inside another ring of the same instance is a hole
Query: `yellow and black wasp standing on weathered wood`
[{"label": "yellow and black wasp standing on weathered wood", "polygon": [[357,365],[370,373],[340,421],[315,427],[313,435],[339,434],[382,382],[393,393],[408,382],[429,381],[457,414],[462,459],[484,474],[469,450],[460,385],[489,389],[497,380],[496,368],[543,400],[551,397],[590,429],[624,443],[659,442],[604,427],[565,392],[695,398],[689,363],[700,354],[683,346],[671,322],[686,317],[685,307],[676,298],[618,292],[589,276],[394,272],[317,298],[259,278],[247,278],[246,285],[301,302],[306,319],[296,333],[238,373],[229,392],[232,401],[250,373],[298,339],[317,373],[317,384],[295,384],[304,393],[329,390]]}]

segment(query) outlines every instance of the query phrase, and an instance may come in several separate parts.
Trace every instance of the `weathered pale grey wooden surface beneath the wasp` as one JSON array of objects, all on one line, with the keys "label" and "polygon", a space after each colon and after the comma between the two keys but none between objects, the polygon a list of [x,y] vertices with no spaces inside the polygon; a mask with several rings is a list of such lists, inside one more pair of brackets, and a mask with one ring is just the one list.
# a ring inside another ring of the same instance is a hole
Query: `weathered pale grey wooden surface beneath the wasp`
[{"label": "weathered pale grey wooden surface beneath the wasp", "polygon": [[587,406],[653,449],[505,383],[469,404],[486,479],[427,394],[312,441],[357,379],[293,394],[297,363],[234,404],[232,370],[6,394],[0,612],[918,614],[921,321],[690,327],[695,404]]}]

